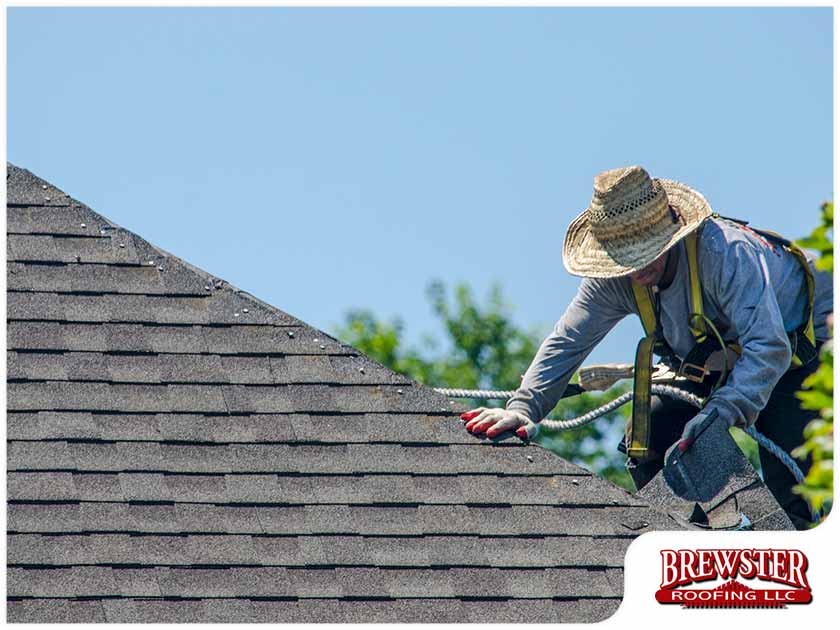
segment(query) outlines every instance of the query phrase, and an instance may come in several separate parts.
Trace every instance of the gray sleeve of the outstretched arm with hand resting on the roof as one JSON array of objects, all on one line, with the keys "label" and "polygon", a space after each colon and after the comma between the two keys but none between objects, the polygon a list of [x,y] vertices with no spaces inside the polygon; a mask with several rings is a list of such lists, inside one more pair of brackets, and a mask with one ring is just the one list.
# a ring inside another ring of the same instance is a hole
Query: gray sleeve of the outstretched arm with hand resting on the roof
[{"label": "gray sleeve of the outstretched arm with hand resting on the roof", "polygon": [[601,339],[629,311],[618,282],[584,278],[566,312],[540,345],[507,409],[540,422]]}]

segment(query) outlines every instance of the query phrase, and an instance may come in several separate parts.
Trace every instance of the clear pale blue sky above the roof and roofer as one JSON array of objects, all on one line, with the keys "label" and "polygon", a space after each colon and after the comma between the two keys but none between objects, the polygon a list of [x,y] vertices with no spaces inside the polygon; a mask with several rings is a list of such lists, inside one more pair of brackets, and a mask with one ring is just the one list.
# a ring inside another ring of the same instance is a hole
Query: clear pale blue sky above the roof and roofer
[{"label": "clear pale blue sky above the roof and roofer", "polygon": [[[831,11],[10,8],[7,158],[328,331],[365,307],[438,333],[440,278],[501,283],[546,333],[599,171],[810,231]],[[632,360],[640,333],[591,360]]]}]

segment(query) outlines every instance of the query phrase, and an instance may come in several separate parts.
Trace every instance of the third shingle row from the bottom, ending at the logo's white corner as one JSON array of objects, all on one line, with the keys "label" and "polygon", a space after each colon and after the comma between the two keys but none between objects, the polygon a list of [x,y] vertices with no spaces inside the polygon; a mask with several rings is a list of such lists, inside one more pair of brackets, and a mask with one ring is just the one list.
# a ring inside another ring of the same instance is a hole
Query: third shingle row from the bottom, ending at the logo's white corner
[{"label": "third shingle row from the bottom, ending at the logo's white corner", "polygon": [[[13,564],[620,567],[632,539],[588,536],[9,536]],[[609,574],[608,574],[609,578]],[[611,581],[614,588],[620,582]]]}]

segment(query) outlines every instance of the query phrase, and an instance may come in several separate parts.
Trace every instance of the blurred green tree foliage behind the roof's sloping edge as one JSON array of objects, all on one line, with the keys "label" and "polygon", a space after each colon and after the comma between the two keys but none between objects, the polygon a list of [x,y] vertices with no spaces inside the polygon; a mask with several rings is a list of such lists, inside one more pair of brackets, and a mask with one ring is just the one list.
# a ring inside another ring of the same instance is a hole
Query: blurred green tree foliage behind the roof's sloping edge
[{"label": "blurred green tree foliage behind the roof's sloping edge", "polygon": [[[470,288],[456,285],[448,296],[446,286],[432,282],[426,296],[446,331],[444,343],[425,337],[421,347],[408,347],[400,318],[381,321],[367,310],[351,310],[337,327],[336,336],[372,359],[429,387],[511,390],[542,342],[536,330],[522,330],[511,319],[511,307],[501,288],[492,288],[485,304],[476,301]],[[619,385],[606,393],[586,393],[566,398],[548,416],[570,418],[585,413],[623,391]],[[471,407],[501,405],[500,401],[466,401]],[[574,461],[627,489],[632,482],[616,445],[624,430],[628,406],[574,431],[541,431],[535,440],[557,455]]]}]

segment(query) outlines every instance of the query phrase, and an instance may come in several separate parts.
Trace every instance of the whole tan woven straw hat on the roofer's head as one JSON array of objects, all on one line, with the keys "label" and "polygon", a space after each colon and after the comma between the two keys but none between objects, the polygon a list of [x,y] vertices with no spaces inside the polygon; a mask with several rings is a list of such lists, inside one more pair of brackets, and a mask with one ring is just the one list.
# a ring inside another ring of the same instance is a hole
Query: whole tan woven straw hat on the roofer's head
[{"label": "whole tan woven straw hat on the roofer's head", "polygon": [[638,271],[712,214],[685,184],[652,179],[641,166],[595,176],[589,207],[569,225],[563,264],[569,273],[613,278]]}]

